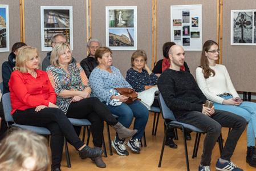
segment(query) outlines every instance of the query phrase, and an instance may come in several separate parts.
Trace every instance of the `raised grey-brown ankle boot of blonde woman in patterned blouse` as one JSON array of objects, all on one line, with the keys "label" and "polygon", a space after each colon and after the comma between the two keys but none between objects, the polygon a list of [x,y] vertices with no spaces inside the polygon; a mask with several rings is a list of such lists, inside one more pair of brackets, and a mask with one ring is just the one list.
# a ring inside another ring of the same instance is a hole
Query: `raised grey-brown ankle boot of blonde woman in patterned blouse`
[{"label": "raised grey-brown ankle boot of blonde woman in patterned blouse", "polygon": [[125,128],[124,125],[121,123],[117,123],[113,125],[113,128],[115,129],[116,133],[118,134],[119,139],[126,139],[129,137],[132,137],[137,132],[137,129],[128,129]]}]

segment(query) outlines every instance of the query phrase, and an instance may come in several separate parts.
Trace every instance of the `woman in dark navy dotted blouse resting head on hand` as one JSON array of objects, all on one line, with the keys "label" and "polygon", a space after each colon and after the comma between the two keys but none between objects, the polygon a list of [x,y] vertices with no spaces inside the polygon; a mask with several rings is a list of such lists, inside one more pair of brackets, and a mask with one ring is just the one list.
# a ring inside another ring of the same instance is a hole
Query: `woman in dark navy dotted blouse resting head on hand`
[{"label": "woman in dark navy dotted blouse resting head on hand", "polygon": [[132,68],[127,71],[126,80],[136,92],[142,92],[157,84],[157,76],[147,66],[147,54],[136,50],[131,58]]}]

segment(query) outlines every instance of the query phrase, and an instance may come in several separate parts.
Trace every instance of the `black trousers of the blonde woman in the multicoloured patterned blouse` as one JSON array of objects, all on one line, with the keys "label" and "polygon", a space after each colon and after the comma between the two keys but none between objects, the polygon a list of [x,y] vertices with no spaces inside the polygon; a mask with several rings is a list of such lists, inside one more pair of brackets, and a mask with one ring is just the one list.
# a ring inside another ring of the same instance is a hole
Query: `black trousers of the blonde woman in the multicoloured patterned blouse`
[{"label": "black trousers of the blonde woman in the multicoloured patterned blouse", "polygon": [[97,147],[102,146],[103,121],[106,121],[109,125],[115,125],[118,122],[109,109],[96,97],[71,103],[68,107],[67,117],[88,119],[92,123],[91,132],[94,139],[93,143]]}]

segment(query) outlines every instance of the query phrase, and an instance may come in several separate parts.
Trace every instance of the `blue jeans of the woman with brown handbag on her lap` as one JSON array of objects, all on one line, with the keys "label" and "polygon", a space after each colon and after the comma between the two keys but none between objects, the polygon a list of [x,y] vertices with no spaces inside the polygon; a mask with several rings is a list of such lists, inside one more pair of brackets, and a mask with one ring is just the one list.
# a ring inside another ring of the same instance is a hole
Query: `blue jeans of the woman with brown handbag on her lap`
[{"label": "blue jeans of the woman with brown handbag on her lap", "polygon": [[117,106],[107,105],[107,107],[109,111],[118,116],[118,121],[126,128],[130,127],[133,117],[135,117],[133,129],[137,129],[138,132],[132,138],[141,139],[143,137],[149,112],[140,101],[135,100],[131,104],[122,103]]}]

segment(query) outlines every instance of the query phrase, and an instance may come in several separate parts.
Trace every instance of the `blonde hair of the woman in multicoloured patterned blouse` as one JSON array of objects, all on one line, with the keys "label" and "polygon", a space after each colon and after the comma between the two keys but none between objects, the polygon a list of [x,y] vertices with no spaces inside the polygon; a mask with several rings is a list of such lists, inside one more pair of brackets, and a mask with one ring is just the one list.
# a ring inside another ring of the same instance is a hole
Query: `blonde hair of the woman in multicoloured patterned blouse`
[{"label": "blonde hair of the woman in multicoloured patterned blouse", "polygon": [[[62,53],[66,50],[67,47],[72,53],[70,45],[68,43],[59,42],[55,44],[54,48],[51,51],[51,59],[50,59],[50,63],[53,66],[59,67],[59,56],[62,55]],[[71,57],[70,63],[71,61],[72,61],[72,57]]]}]

